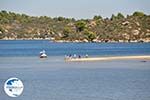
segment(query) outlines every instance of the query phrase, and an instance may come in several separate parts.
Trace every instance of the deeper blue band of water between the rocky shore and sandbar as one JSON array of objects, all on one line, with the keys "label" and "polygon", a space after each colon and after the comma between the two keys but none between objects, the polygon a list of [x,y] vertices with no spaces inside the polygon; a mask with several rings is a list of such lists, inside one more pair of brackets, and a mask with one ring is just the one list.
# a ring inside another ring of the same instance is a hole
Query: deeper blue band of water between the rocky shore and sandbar
[{"label": "deeper blue band of water between the rocky shore and sandbar", "polygon": [[0,40],[1,56],[37,56],[41,50],[49,56],[80,55],[147,55],[150,43],[53,43],[50,41]]}]

